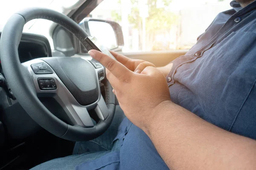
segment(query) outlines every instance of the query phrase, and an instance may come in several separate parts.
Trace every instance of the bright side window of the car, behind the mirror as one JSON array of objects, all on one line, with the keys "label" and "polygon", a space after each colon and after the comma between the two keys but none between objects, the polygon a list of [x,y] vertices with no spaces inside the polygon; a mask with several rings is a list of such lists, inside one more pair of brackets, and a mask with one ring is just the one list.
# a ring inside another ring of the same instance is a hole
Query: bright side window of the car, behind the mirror
[{"label": "bright side window of the car, behind the mirror", "polygon": [[124,52],[169,51],[191,48],[230,8],[230,0],[104,0],[90,17],[122,26]]}]

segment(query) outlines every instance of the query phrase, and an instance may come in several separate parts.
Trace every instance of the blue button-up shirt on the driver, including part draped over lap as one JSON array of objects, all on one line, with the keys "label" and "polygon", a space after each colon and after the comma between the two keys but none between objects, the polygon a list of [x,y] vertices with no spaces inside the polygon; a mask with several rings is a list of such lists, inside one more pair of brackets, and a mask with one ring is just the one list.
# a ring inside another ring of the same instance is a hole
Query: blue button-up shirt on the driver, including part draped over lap
[{"label": "blue button-up shirt on the driver, including part draped over lap", "polygon": [[[221,12],[166,77],[173,102],[225,130],[256,139],[256,1]],[[170,81],[171,80],[171,81]],[[148,136],[124,119],[120,150],[76,168],[167,170]]]}]

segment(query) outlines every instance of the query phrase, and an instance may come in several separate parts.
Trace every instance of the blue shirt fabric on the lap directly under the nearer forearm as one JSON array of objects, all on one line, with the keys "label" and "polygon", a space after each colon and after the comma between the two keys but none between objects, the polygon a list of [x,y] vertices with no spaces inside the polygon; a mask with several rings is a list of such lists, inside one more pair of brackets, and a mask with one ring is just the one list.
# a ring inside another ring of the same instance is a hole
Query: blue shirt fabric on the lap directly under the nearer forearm
[{"label": "blue shirt fabric on the lap directly under the nearer forearm", "polygon": [[119,169],[169,170],[149,137],[143,130],[133,124],[129,127],[128,133],[126,133],[124,137],[122,147],[120,147]]}]

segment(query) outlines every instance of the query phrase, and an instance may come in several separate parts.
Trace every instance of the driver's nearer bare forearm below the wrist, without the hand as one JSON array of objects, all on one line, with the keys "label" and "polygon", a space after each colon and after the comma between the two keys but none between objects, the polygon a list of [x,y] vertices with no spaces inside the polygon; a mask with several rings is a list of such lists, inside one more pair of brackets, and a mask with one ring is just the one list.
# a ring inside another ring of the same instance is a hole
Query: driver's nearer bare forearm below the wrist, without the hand
[{"label": "driver's nearer bare forearm below the wrist, without the hand", "polygon": [[173,170],[256,167],[254,140],[222,130],[172,102],[161,103],[143,130]]}]

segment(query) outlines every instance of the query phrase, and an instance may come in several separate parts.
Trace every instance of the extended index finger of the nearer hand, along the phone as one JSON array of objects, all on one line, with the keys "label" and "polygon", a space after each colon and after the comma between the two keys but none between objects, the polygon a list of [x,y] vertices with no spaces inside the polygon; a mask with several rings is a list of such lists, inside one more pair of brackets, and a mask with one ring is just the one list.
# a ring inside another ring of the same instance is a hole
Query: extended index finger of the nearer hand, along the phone
[{"label": "extended index finger of the nearer hand, along the phone", "polygon": [[132,72],[108,55],[97,50],[90,50],[88,54],[104,65],[119,81],[127,82],[131,78]]}]

